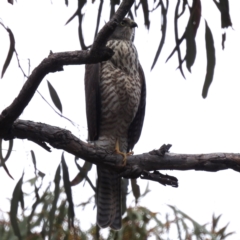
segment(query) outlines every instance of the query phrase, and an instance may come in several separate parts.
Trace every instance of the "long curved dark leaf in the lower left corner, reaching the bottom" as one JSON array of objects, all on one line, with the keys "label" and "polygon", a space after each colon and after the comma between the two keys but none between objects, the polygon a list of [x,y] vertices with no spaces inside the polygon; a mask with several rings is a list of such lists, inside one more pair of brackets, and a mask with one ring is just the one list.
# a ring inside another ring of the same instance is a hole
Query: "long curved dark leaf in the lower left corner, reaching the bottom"
[{"label": "long curved dark leaf in the lower left corner, reaching the bottom", "polygon": [[18,221],[17,212],[18,212],[18,202],[22,201],[22,196],[23,196],[23,192],[22,192],[23,175],[19,179],[16,187],[14,188],[12,200],[11,200],[11,208],[10,208],[10,221],[12,224],[14,234],[18,237],[19,240],[22,239],[22,236],[20,234],[20,230],[17,222]]}]

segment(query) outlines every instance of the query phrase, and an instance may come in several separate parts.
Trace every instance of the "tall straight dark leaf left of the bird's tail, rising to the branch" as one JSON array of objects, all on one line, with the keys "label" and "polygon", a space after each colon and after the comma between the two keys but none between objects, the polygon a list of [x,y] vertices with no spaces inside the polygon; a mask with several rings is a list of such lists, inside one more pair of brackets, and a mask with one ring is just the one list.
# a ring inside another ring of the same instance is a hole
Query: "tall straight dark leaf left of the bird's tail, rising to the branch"
[{"label": "tall straight dark leaf left of the bird's tail, rising to the branch", "polygon": [[63,170],[63,185],[65,188],[65,192],[67,195],[67,201],[69,204],[68,208],[68,221],[69,221],[69,227],[73,226],[74,221],[74,207],[73,207],[73,200],[72,200],[72,190],[71,190],[71,183],[69,181],[69,173],[68,173],[68,167],[64,159],[64,153],[62,153],[62,170]]}]

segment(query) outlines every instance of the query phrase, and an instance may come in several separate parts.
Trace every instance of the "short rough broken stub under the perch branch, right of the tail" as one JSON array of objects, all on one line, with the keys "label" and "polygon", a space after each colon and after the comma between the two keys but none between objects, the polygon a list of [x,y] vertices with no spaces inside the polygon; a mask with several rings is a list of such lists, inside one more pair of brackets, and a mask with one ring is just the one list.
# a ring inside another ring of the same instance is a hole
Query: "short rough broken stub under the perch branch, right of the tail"
[{"label": "short rough broken stub under the perch branch, right of the tail", "polygon": [[178,179],[176,177],[169,176],[167,174],[164,175],[158,171],[154,171],[153,173],[150,173],[148,171],[143,171],[140,178],[151,180],[151,181],[156,181],[156,182],[161,183],[164,186],[169,185],[172,187],[178,187]]}]

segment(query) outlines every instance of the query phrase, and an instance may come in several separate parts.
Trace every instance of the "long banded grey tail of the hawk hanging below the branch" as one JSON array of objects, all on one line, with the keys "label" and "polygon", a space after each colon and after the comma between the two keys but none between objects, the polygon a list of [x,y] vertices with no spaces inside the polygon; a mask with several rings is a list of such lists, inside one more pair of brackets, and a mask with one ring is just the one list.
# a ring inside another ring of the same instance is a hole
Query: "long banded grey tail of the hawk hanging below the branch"
[{"label": "long banded grey tail of the hawk hanging below the branch", "polygon": [[122,225],[121,178],[108,169],[97,167],[97,223],[99,227],[110,226],[119,230]]}]

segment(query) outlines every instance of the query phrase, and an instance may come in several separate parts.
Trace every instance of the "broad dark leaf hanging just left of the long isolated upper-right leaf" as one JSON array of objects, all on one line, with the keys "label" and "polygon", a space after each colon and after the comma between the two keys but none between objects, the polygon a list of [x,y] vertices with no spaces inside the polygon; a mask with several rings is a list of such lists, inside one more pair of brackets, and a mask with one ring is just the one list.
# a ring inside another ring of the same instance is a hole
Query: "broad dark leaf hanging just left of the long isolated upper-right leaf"
[{"label": "broad dark leaf hanging just left of the long isolated upper-right leaf", "polygon": [[195,42],[195,34],[192,22],[189,19],[186,32],[186,66],[189,72],[191,72],[191,67],[194,64],[197,48],[196,48],[196,42]]}]

